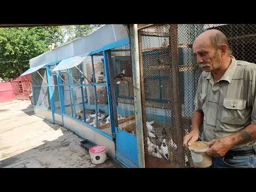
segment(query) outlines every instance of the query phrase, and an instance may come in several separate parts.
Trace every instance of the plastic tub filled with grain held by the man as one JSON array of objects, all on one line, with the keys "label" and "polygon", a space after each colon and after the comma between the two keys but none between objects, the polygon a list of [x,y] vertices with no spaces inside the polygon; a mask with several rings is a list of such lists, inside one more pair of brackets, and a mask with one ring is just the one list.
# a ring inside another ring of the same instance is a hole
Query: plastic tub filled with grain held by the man
[{"label": "plastic tub filled with grain held by the man", "polygon": [[212,157],[207,155],[209,149],[208,143],[205,141],[196,141],[188,147],[190,150],[193,163],[196,167],[209,167],[212,165]]}]

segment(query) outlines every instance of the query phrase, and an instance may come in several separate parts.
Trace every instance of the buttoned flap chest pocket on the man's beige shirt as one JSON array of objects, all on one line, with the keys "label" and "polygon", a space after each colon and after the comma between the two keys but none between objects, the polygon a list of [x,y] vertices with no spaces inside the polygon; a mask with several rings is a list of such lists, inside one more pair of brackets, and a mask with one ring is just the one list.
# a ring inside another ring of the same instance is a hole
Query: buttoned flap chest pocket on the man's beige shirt
[{"label": "buttoned flap chest pocket on the man's beige shirt", "polygon": [[246,100],[227,99],[223,100],[223,109],[221,114],[221,122],[235,125],[243,125],[246,123],[245,118]]}]

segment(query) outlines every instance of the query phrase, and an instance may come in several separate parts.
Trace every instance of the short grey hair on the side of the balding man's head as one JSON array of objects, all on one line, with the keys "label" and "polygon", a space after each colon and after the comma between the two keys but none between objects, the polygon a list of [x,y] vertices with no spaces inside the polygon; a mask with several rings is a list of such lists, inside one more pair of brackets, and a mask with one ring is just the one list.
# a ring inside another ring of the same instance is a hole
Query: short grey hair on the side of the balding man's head
[{"label": "short grey hair on the side of the balding man's head", "polygon": [[214,33],[214,35],[210,36],[210,42],[215,47],[216,50],[220,49],[221,45],[226,44],[228,46],[228,54],[231,55],[232,51],[230,49],[228,39],[225,34],[223,34],[221,31],[217,31],[217,33]]}]

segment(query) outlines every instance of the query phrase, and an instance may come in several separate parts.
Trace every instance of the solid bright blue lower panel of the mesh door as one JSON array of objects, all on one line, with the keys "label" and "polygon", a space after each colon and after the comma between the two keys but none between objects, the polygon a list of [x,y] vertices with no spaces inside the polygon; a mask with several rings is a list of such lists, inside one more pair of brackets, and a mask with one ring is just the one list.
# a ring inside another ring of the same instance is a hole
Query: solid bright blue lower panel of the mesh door
[{"label": "solid bright blue lower panel of the mesh door", "polygon": [[122,130],[118,130],[117,132],[116,127],[115,132],[117,152],[125,156],[127,159],[130,159],[133,163],[139,165],[137,137]]}]

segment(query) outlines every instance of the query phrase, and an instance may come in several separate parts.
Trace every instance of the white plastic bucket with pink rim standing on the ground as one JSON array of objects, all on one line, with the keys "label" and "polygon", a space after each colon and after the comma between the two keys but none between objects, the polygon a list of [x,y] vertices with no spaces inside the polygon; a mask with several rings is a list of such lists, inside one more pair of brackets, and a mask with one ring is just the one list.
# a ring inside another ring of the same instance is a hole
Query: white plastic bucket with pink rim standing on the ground
[{"label": "white plastic bucket with pink rim standing on the ground", "polygon": [[93,164],[104,163],[107,159],[106,147],[102,145],[93,146],[89,149],[91,161]]}]

